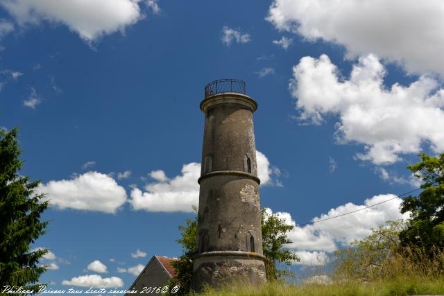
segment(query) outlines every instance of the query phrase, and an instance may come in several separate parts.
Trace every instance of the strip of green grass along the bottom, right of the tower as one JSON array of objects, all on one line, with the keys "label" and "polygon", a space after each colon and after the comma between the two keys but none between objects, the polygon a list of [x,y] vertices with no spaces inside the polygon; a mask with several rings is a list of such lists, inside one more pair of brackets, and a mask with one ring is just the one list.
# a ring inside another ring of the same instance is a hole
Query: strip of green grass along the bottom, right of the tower
[{"label": "strip of green grass along the bottom, right of the tower", "polygon": [[279,282],[263,286],[235,284],[220,290],[208,288],[194,296],[293,296],[293,295],[332,295],[332,296],[385,296],[385,295],[438,295],[444,294],[444,277],[398,277],[390,280],[379,280],[367,283],[349,281],[333,284],[296,284],[287,285]]}]

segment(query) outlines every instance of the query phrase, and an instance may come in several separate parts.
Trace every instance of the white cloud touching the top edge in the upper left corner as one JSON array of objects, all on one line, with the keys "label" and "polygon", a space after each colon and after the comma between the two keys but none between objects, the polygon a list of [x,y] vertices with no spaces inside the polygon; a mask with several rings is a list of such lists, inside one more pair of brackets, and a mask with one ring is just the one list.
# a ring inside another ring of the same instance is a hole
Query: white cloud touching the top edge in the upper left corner
[{"label": "white cloud touching the top edge in the upper left corner", "polygon": [[0,4],[20,26],[42,21],[65,24],[88,42],[135,24],[144,17],[143,5],[155,13],[160,10],[154,0],[4,0]]}]

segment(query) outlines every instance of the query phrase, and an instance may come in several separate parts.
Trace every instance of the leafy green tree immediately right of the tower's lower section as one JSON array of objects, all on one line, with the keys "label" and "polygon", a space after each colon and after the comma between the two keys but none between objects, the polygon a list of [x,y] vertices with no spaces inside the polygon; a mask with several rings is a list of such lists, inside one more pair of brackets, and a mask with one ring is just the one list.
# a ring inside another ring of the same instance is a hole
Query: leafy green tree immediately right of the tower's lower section
[{"label": "leafy green tree immediately right of the tower's lower section", "polygon": [[293,229],[293,225],[285,223],[278,214],[268,214],[266,209],[261,210],[262,220],[262,247],[265,256],[266,278],[268,280],[280,279],[291,275],[287,270],[277,268],[278,263],[284,263],[291,266],[300,258],[292,250],[284,249],[287,243],[293,243],[287,233]]}]

